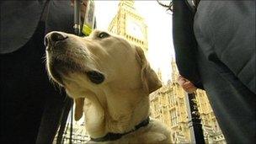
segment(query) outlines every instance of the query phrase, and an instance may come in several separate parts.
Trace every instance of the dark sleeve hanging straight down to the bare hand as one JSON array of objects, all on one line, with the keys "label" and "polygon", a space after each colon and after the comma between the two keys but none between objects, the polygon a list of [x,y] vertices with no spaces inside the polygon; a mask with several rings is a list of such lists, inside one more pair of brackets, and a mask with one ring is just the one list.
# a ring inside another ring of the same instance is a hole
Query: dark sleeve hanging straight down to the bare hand
[{"label": "dark sleeve hanging straight down to the bare hand", "polygon": [[203,88],[196,63],[193,18],[194,13],[184,1],[173,0],[173,44],[179,73],[197,88]]}]

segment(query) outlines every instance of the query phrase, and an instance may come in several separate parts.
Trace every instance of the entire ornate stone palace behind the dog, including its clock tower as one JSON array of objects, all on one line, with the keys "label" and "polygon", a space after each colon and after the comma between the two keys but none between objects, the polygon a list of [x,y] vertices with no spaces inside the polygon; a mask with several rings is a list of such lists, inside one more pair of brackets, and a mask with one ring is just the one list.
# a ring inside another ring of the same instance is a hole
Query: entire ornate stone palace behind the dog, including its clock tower
[{"label": "entire ornate stone palace behind the dog, including its clock tower", "polygon": [[[134,0],[120,0],[118,11],[109,24],[109,31],[116,35],[121,35],[131,43],[140,46],[147,55],[147,24],[145,24],[140,14],[136,12],[134,3]],[[173,60],[171,61],[171,67],[173,69],[171,80],[167,84],[163,84],[162,88],[150,94],[150,116],[161,120],[171,128],[174,141],[177,143],[189,143],[191,138],[187,94],[177,82],[179,72]],[[162,74],[160,71],[157,72],[157,75],[161,79]],[[205,91],[196,90],[194,100],[199,110],[205,143],[226,143]],[[63,136],[65,141],[68,141],[68,136],[70,135],[68,129],[69,126]],[[73,125],[74,133],[72,137],[75,138],[73,143],[88,141],[89,138],[84,129],[84,125],[78,125],[77,123]]]}]

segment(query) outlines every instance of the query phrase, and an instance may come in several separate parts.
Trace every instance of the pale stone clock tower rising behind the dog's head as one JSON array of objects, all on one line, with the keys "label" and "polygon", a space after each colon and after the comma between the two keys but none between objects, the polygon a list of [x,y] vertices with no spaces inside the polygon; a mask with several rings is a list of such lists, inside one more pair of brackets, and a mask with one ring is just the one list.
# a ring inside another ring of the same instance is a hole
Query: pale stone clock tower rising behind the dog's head
[{"label": "pale stone clock tower rising behind the dog's head", "polygon": [[134,8],[134,0],[120,0],[118,12],[109,24],[109,31],[122,35],[147,53],[147,25]]}]

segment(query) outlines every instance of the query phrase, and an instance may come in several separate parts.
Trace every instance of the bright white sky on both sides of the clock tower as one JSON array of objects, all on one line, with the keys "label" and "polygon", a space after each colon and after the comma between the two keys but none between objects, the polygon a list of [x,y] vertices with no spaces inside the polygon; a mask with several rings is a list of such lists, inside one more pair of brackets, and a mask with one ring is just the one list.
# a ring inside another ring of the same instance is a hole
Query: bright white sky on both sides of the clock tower
[{"label": "bright white sky on both sides of the clock tower", "polygon": [[[108,29],[115,17],[118,0],[94,0],[98,29]],[[148,61],[157,72],[162,71],[163,82],[171,78],[171,59],[174,57],[172,15],[155,0],[135,1],[135,8],[145,19],[148,36]]]}]

